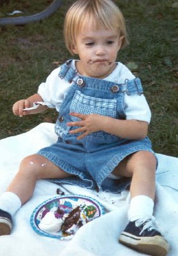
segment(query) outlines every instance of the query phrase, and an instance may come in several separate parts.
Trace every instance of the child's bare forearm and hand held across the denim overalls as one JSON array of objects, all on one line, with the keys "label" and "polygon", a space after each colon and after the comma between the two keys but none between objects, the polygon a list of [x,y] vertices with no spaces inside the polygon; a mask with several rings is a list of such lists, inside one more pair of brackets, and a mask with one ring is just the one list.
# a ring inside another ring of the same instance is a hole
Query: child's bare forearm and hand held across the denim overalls
[{"label": "child's bare forearm and hand held across the denim overalls", "polygon": [[79,126],[80,128],[70,131],[71,134],[82,132],[78,140],[84,138],[91,132],[104,131],[121,138],[129,140],[142,140],[147,136],[148,124],[137,120],[118,120],[109,116],[102,115],[82,115],[71,113],[81,120],[78,122],[69,122],[68,126]]}]

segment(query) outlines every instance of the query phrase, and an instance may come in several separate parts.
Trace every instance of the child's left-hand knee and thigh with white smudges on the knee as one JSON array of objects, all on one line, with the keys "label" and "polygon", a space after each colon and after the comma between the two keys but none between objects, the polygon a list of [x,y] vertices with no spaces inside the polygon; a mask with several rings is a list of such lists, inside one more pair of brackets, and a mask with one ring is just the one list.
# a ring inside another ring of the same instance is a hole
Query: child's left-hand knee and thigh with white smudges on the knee
[{"label": "child's left-hand knee and thigh with white smudges on the knee", "polygon": [[37,179],[61,179],[73,176],[40,154],[33,154],[24,158],[20,164],[20,171],[33,173]]}]

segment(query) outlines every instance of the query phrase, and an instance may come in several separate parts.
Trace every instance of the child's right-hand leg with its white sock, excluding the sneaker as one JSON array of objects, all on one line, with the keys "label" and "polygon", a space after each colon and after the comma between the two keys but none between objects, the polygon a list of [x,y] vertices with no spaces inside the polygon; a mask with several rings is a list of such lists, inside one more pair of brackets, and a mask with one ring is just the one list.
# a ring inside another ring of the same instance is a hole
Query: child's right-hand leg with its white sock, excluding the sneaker
[{"label": "child's right-hand leg with its white sock, excluding the sneaker", "polygon": [[156,158],[151,152],[138,151],[126,157],[114,170],[114,174],[132,177],[130,221],[152,216],[155,196]]}]

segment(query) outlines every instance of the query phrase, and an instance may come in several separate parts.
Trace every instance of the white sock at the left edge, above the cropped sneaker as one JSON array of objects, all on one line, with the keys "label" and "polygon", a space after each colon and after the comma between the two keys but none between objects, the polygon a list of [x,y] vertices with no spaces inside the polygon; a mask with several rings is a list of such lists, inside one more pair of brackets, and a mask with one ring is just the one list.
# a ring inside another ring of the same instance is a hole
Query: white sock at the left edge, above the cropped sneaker
[{"label": "white sock at the left edge, above the cropped sneaker", "polygon": [[12,192],[4,192],[0,196],[0,209],[10,213],[11,216],[15,215],[21,205],[19,196]]}]

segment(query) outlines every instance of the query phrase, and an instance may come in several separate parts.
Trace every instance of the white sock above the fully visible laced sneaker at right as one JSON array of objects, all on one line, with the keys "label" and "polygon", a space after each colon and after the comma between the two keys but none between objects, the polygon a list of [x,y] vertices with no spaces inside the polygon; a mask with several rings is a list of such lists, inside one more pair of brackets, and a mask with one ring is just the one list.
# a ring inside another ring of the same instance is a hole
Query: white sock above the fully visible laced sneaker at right
[{"label": "white sock above the fully visible laced sneaker at right", "polygon": [[131,198],[128,210],[128,219],[135,221],[146,216],[152,217],[154,202],[152,198],[145,195],[138,195]]}]

